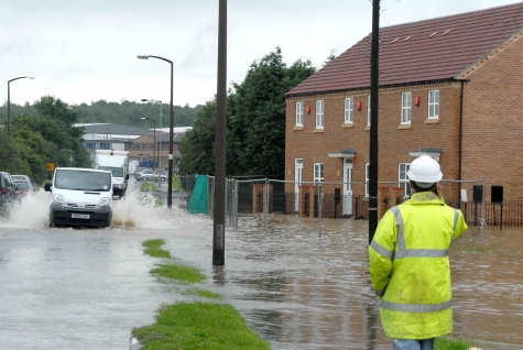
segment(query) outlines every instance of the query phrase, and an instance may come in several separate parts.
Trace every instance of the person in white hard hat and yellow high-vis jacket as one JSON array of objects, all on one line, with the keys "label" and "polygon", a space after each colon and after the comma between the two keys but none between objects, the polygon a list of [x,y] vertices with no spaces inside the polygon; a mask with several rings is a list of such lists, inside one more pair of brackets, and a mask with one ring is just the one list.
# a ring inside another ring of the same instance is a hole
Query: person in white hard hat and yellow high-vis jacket
[{"label": "person in white hard hat and yellow high-vis jacket", "polygon": [[432,350],[453,331],[448,250],[466,230],[440,196],[438,162],[422,155],[407,172],[412,196],[385,212],[369,247],[380,315],[395,350]]}]

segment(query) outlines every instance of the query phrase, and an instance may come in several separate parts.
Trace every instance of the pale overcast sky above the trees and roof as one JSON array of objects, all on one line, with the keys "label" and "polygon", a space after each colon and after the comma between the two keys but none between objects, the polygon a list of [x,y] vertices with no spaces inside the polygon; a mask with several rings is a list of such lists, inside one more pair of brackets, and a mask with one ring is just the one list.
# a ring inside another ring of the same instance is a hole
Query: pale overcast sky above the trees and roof
[{"label": "pale overcast sky above the trees and roof", "polygon": [[[381,0],[380,26],[476,11],[511,0]],[[0,89],[11,102],[170,101],[190,107],[217,91],[219,0],[0,0]],[[229,0],[227,80],[241,83],[276,46],[287,64],[320,67],[372,30],[369,0]]]}]

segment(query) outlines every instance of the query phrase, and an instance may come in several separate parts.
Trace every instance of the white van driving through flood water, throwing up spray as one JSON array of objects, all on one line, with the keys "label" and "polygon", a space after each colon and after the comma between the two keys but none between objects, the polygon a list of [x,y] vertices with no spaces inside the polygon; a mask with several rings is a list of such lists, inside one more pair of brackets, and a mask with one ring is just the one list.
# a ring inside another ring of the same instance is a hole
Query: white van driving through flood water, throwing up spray
[{"label": "white van driving through flood water, throwing up spray", "polygon": [[50,226],[109,227],[112,219],[111,172],[57,167],[51,192]]}]

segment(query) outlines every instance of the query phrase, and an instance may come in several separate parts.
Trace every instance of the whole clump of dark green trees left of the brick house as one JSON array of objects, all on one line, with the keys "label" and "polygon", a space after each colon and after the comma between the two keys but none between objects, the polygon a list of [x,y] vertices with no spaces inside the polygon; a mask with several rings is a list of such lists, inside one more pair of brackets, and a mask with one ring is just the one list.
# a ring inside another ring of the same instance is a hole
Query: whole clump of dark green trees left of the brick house
[{"label": "whole clump of dark green trees left of the brick house", "polygon": [[[285,92],[315,72],[309,61],[287,67],[276,47],[254,62],[241,84],[232,84],[227,100],[227,172],[235,175],[284,176]],[[181,144],[182,174],[213,175],[216,99],[197,114]]]}]

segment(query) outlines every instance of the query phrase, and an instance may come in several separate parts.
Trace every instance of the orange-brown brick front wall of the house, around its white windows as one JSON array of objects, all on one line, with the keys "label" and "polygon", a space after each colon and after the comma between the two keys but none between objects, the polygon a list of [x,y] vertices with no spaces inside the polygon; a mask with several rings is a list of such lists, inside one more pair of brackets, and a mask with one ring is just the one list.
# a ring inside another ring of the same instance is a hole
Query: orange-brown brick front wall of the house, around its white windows
[{"label": "orange-brown brick front wall of the house, around its white windows", "polygon": [[[428,117],[428,90],[439,90],[439,123],[426,123]],[[412,92],[411,129],[399,129],[401,124],[402,92]],[[459,84],[440,84],[420,87],[380,90],[379,116],[379,181],[397,182],[397,164],[411,163],[414,157],[408,151],[425,147],[440,147],[442,169],[445,178],[457,178]],[[353,97],[353,127],[342,128],[345,97]],[[325,163],[325,182],[342,182],[342,158],[330,158],[328,152],[352,149],[357,151],[352,164],[352,181],[364,182],[364,164],[369,162],[369,136],[367,105],[369,91],[356,91],[288,98],[286,103],[285,179],[294,181],[294,160],[304,158],[304,182],[312,182],[314,163]],[[415,98],[421,97],[420,107]],[[316,100],[325,100],[325,132],[315,132]],[[310,106],[310,113],[304,113],[303,130],[295,127],[296,101],[304,101],[304,110]],[[361,111],[357,110],[361,101]],[[288,184],[286,190],[292,192]],[[355,196],[362,196],[364,186],[355,188]],[[457,194],[455,194],[457,196]]]}]

